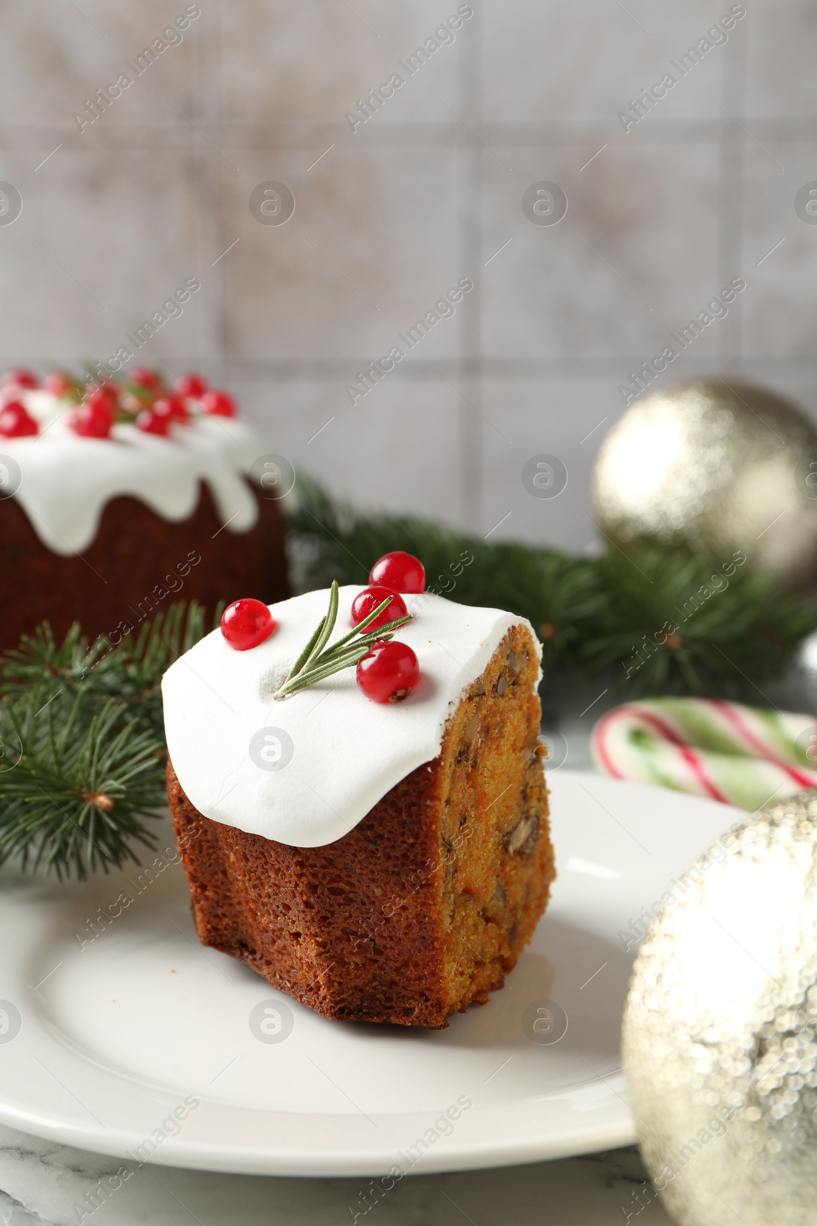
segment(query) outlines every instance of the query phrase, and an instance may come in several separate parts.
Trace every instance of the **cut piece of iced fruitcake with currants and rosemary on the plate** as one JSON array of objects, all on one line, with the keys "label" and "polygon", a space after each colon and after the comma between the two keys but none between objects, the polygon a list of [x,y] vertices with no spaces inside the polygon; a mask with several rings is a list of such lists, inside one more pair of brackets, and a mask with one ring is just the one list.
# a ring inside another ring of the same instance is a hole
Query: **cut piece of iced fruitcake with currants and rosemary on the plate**
[{"label": "cut piece of iced fruitcake with currants and rosemary on the plate", "polygon": [[370,577],[239,601],[168,669],[168,794],[205,945],[328,1018],[441,1027],[555,875],[540,646],[405,554]]}]

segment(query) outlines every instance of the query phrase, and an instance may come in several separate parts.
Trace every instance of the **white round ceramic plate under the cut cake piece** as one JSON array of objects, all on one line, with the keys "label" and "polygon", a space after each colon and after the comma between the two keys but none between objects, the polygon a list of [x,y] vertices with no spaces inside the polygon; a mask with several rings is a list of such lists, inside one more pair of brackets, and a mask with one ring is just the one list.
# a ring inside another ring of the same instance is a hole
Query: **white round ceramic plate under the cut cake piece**
[{"label": "white round ceramic plate under the cut cake piece", "polygon": [[[425,1173],[631,1144],[619,1031],[636,946],[626,953],[617,934],[742,814],[566,770],[550,785],[549,911],[505,989],[443,1031],[327,1021],[202,949],[178,863],[149,881],[4,878],[0,1119],[131,1166],[289,1176]],[[163,835],[159,863],[174,857]],[[89,939],[98,907],[114,918]],[[273,1013],[260,1040],[250,1015],[276,999],[292,1032],[268,1041],[280,1035]],[[557,1042],[541,1041],[563,1026],[546,1002],[567,1016]]]}]

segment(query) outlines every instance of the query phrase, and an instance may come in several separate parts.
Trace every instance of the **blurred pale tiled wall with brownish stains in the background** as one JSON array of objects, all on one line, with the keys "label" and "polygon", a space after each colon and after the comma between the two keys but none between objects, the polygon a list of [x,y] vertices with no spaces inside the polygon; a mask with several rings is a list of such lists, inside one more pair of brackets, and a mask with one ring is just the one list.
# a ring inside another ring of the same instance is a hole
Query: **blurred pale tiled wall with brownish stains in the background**
[{"label": "blurred pale tiled wall with brownish stains in the background", "polygon": [[[625,132],[729,2],[473,0],[353,134],[344,113],[457,7],[201,0],[80,134],[72,112],[185,4],[6,4],[0,179],[23,211],[0,226],[0,360],[104,357],[196,275],[140,360],[203,368],[358,501],[574,549],[619,383],[731,277],[746,292],[671,376],[755,379],[817,419],[817,227],[794,211],[817,180],[813,5],[748,0]],[[266,180],[294,192],[285,226],[250,212]],[[557,226],[522,212],[538,180],[567,194]],[[345,384],[464,276],[456,315],[353,406]],[[550,501],[521,483],[543,451],[570,473]]]}]

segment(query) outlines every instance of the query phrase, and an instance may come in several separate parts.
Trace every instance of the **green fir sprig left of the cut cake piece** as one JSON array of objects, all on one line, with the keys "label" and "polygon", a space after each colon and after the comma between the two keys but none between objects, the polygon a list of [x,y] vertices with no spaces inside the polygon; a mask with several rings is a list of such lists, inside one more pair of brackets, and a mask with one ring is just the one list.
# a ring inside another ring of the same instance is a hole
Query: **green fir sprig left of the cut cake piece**
[{"label": "green fir sprig left of the cut cake piece", "polygon": [[[220,611],[219,611],[220,612]],[[0,667],[0,863],[80,879],[138,863],[167,804],[162,674],[205,634],[184,602],[118,646],[48,623]]]}]

